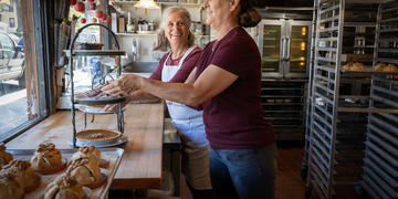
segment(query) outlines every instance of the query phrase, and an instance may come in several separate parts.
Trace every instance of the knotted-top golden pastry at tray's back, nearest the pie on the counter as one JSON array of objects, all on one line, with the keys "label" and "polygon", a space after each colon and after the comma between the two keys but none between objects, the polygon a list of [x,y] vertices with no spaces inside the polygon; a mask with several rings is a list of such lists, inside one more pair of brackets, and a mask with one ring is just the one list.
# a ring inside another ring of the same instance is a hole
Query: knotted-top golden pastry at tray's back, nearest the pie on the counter
[{"label": "knotted-top golden pastry at tray's back, nearest the pie on the counter", "polygon": [[61,151],[52,143],[40,144],[30,163],[34,170],[43,175],[63,170],[66,165]]}]

